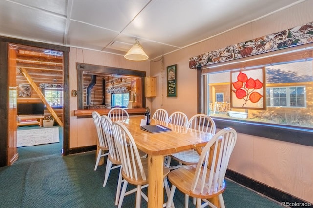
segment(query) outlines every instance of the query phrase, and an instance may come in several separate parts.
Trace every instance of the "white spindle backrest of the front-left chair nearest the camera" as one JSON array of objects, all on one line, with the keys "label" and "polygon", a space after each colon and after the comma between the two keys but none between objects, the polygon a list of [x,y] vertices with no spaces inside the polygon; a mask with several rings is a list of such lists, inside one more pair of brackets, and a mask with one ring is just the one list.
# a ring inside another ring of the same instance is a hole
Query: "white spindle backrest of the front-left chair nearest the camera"
[{"label": "white spindle backrest of the front-left chair nearest the camera", "polygon": [[[138,148],[129,130],[121,122],[116,121],[112,123],[112,132],[121,157],[122,171],[135,180],[138,180],[139,174],[143,180],[146,180]],[[137,169],[139,169],[139,172]]]}]

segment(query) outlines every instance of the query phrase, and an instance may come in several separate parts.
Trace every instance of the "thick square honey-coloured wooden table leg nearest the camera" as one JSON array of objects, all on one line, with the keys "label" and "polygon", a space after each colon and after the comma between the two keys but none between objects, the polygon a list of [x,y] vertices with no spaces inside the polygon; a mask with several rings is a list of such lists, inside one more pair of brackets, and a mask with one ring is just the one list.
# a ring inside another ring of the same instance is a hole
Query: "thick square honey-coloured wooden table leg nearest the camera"
[{"label": "thick square honey-coloured wooden table leg nearest the camera", "polygon": [[148,155],[148,208],[163,207],[163,155]]}]

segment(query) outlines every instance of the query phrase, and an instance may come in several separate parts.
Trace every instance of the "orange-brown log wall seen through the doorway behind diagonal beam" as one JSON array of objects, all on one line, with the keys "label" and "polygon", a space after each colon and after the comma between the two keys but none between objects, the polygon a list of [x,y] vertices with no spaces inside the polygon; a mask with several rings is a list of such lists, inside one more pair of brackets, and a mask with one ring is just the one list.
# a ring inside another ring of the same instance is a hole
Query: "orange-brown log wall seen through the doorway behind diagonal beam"
[{"label": "orange-brown log wall seen through the doorway behind diagonal beam", "polygon": [[[25,76],[19,71],[24,68],[33,82],[40,87],[40,83],[60,84],[63,86],[63,58],[62,56],[45,54],[36,48],[17,45],[17,90],[19,85],[30,85]],[[39,95],[34,89],[31,90],[30,97],[19,97],[17,92],[17,103],[42,103]],[[60,120],[63,120],[63,109],[54,109]],[[45,108],[45,116],[51,113]]]}]

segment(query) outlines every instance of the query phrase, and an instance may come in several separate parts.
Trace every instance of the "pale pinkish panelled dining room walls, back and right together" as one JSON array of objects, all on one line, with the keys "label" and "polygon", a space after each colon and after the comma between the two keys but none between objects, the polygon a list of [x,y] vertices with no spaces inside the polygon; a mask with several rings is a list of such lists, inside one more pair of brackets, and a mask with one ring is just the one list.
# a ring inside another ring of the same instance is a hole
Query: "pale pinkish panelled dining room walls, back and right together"
[{"label": "pale pinkish panelled dining room walls, back and right together", "polygon": [[[70,90],[77,90],[76,62],[146,71],[147,76],[156,77],[157,82],[156,97],[146,99],[152,113],[157,108],[164,108],[169,113],[180,110],[190,118],[197,113],[197,71],[189,69],[190,57],[311,22],[312,8],[313,1],[305,1],[218,37],[165,55],[165,71],[166,66],[178,65],[177,98],[166,98],[166,73],[163,76],[161,61],[132,62],[123,56],[76,48],[70,50]],[[71,97],[70,148],[95,145],[96,132],[92,119],[77,119],[74,116],[76,109],[77,97]],[[313,203],[312,161],[313,147],[239,134],[229,168]]]}]

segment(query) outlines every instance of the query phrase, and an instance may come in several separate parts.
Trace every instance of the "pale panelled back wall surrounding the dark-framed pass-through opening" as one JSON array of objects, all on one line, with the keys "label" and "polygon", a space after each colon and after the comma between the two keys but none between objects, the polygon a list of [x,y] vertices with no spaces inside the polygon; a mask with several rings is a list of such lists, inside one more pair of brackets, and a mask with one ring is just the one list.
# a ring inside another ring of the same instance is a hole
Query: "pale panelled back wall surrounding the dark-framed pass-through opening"
[{"label": "pale panelled back wall surrounding the dark-framed pass-through opening", "polygon": [[[76,63],[86,63],[114,68],[132,69],[150,73],[150,62],[134,62],[123,56],[97,52],[86,49],[70,48],[69,53],[69,89],[77,90]],[[149,101],[148,101],[149,102]],[[74,110],[77,110],[77,97],[70,97],[70,141],[69,147],[82,147],[97,144],[97,135],[92,118],[77,119]]]}]

